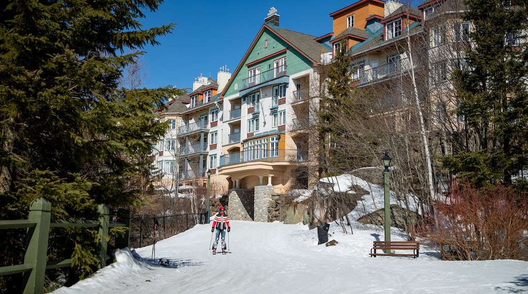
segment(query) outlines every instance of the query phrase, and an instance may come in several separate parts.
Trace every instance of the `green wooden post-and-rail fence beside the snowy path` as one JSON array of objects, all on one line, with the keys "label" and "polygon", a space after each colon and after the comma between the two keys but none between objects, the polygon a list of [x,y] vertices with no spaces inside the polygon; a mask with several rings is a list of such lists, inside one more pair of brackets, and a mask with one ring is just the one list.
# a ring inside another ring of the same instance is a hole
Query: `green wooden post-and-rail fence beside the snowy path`
[{"label": "green wooden post-and-rail fence beside the snowy path", "polygon": [[[0,276],[22,273],[23,293],[43,293],[46,269],[70,267],[72,260],[46,261],[50,228],[99,228],[99,267],[105,266],[109,257],[106,254],[110,228],[130,228],[130,212],[118,211],[119,222],[110,221],[110,209],[106,204],[99,204],[97,220],[52,220],[51,203],[45,198],[37,198],[30,205],[27,220],[0,220],[0,229],[27,229],[26,252],[24,263],[0,267]],[[130,230],[125,236],[116,237],[118,248],[128,247]]]}]

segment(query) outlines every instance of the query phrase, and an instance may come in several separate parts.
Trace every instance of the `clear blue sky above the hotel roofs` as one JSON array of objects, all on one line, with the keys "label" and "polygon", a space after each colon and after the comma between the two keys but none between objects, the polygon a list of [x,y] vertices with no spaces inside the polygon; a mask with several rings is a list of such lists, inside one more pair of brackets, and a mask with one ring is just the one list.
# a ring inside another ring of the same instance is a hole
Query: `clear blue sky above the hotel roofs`
[{"label": "clear blue sky above the hotel roofs", "polygon": [[146,13],[144,28],[177,23],[172,34],[159,37],[161,45],[146,46],[143,57],[147,88],[190,88],[203,74],[216,79],[220,67],[232,73],[264,23],[271,7],[280,27],[322,36],[332,32],[328,15],[357,0],[166,0],[155,13]]}]

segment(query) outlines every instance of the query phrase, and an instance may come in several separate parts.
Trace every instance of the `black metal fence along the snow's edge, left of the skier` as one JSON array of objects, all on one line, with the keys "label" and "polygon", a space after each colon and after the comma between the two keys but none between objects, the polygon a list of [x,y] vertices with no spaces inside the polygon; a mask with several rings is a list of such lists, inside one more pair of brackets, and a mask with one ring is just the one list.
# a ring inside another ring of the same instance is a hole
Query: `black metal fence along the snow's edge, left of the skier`
[{"label": "black metal fence along the snow's edge, left of the skier", "polygon": [[140,248],[172,237],[205,223],[207,213],[164,215],[154,218],[133,219],[130,222],[130,247]]}]

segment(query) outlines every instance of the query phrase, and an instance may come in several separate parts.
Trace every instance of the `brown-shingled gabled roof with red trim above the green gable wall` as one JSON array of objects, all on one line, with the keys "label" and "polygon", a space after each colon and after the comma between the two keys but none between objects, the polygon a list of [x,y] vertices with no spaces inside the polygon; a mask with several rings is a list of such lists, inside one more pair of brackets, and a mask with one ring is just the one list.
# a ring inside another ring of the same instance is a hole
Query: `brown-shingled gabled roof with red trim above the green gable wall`
[{"label": "brown-shingled gabled roof with red trim above the green gable wall", "polygon": [[[233,72],[232,77],[237,76],[241,68],[244,66],[244,64],[246,64],[249,54],[265,30],[270,31],[288,43],[291,46],[288,48],[288,50],[293,48],[294,50],[303,54],[306,58],[308,58],[308,60],[312,62],[313,66],[320,63],[321,54],[331,52],[328,47],[315,41],[317,39],[316,36],[286,30],[285,28],[280,28],[272,24],[263,24],[257,36],[253,39],[253,42],[249,46],[248,51],[246,51],[246,54],[244,54],[244,57],[238,64],[237,69]],[[223,98],[225,92],[229,89],[233,80],[234,79],[230,79],[228,84],[225,85],[224,90],[222,90],[220,95],[221,98]]]}]

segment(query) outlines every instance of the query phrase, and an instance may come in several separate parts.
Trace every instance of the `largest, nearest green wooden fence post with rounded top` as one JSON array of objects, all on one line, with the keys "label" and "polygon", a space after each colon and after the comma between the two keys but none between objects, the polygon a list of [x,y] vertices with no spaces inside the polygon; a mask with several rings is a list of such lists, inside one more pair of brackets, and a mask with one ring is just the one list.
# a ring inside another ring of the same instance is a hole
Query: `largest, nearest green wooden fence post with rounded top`
[{"label": "largest, nearest green wooden fence post with rounded top", "polygon": [[50,235],[51,203],[48,199],[37,198],[31,202],[28,220],[35,221],[34,228],[27,229],[24,263],[33,269],[25,272],[22,279],[24,293],[43,293]]}]

